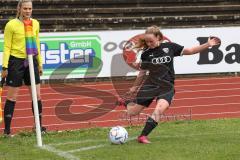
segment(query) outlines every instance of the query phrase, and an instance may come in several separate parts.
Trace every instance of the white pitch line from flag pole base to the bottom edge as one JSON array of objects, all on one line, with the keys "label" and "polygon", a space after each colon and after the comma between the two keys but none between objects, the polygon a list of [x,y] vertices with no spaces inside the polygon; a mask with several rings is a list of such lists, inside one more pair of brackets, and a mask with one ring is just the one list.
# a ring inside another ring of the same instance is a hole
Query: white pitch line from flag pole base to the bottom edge
[{"label": "white pitch line from flag pole base to the bottom edge", "polygon": [[67,152],[61,151],[61,150],[57,150],[56,148],[49,146],[49,145],[44,145],[43,147],[41,147],[44,150],[47,150],[48,152],[52,152],[55,153],[56,155],[58,155],[59,157],[63,157],[67,160],[80,160],[80,158],[69,154]]}]

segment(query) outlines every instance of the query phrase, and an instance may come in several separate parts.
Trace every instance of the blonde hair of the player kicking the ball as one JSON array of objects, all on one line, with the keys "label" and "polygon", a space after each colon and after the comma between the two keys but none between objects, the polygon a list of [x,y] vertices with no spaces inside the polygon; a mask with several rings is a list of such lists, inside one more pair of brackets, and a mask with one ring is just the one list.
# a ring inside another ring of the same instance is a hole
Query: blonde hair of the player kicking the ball
[{"label": "blonde hair of the player kicking the ball", "polygon": [[[156,25],[147,27],[145,34],[153,34],[154,36],[159,38],[159,41],[161,41],[163,39],[163,34],[160,31],[160,28]],[[136,44],[136,46],[134,48],[147,48],[147,44],[144,38],[139,39],[138,43]]]}]

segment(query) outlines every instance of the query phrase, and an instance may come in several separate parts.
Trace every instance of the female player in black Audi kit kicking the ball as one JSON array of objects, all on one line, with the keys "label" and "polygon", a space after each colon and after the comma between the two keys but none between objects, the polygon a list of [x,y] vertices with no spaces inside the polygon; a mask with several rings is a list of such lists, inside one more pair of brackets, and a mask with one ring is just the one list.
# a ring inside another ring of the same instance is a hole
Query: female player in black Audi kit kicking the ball
[{"label": "female player in black Audi kit kicking the ball", "polygon": [[[163,35],[157,26],[146,29],[142,43],[137,46],[143,50],[140,73],[129,91],[137,92],[136,98],[132,101],[125,101],[128,115],[134,116],[156,99],[156,107],[137,139],[139,143],[150,143],[147,138],[148,134],[158,125],[160,116],[171,104],[174,96],[174,57],[196,54],[220,43],[220,39],[212,37],[205,44],[184,48],[176,43],[163,42]],[[148,78],[143,82],[146,73],[148,73]]]}]

